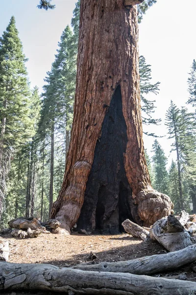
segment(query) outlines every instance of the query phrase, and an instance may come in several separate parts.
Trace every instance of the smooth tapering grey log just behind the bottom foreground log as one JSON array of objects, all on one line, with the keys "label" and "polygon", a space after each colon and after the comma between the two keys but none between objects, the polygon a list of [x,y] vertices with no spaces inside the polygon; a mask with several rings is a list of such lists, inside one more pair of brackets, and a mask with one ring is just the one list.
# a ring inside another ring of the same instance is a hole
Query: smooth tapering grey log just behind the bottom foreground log
[{"label": "smooth tapering grey log just behind the bottom foreground log", "polygon": [[179,251],[152,255],[129,261],[101,262],[95,265],[80,264],[75,269],[89,271],[130,272],[133,274],[154,274],[179,268],[196,261],[196,244]]}]

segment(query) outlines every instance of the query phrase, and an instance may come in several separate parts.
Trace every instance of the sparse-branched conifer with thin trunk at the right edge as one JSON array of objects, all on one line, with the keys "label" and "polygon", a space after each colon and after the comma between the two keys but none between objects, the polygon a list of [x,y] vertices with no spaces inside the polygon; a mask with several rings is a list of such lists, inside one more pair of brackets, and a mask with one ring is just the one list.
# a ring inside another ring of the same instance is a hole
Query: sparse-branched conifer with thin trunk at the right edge
[{"label": "sparse-branched conifer with thin trunk at the right edge", "polygon": [[[184,210],[184,202],[187,202],[187,181],[191,174],[195,174],[193,161],[196,163],[196,140],[194,136],[194,115],[186,108],[179,110],[171,101],[166,114],[169,138],[174,139],[172,150],[176,151],[178,167],[178,189],[181,210]],[[185,178],[186,177],[186,178]],[[183,185],[184,182],[184,196]]]}]

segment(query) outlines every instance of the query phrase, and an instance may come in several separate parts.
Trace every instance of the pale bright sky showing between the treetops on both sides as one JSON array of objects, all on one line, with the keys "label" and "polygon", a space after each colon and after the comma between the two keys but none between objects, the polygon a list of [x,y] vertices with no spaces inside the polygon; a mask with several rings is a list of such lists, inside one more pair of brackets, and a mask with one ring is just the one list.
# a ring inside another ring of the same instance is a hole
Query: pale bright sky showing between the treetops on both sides
[{"label": "pale bright sky showing between the treetops on both sides", "polygon": [[[42,89],[43,79],[54,60],[57,43],[65,27],[70,24],[75,0],[53,0],[54,10],[40,10],[39,0],[0,0],[0,35],[12,15],[23,42],[31,87]],[[188,100],[187,79],[193,59],[196,59],[196,0],[157,0],[144,15],[139,25],[140,55],[151,64],[153,82],[161,82],[156,98],[156,117],[162,118],[159,126],[147,127],[148,132],[166,135],[158,139],[170,154],[171,142],[167,139],[164,117],[171,99],[178,106]],[[150,154],[154,139],[144,137]],[[172,154],[175,157],[175,154]],[[170,156],[169,162],[171,162]]]}]

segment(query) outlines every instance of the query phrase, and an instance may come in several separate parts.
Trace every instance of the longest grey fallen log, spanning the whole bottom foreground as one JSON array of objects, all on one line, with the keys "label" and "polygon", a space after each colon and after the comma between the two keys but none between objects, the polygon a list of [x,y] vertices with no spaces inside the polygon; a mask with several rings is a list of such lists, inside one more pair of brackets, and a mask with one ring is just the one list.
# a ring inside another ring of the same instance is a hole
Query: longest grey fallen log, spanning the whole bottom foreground
[{"label": "longest grey fallen log, spanning the whole bottom foreground", "polygon": [[73,295],[190,295],[196,294],[196,283],[130,273],[82,271],[47,264],[0,262],[0,290],[20,289]]}]

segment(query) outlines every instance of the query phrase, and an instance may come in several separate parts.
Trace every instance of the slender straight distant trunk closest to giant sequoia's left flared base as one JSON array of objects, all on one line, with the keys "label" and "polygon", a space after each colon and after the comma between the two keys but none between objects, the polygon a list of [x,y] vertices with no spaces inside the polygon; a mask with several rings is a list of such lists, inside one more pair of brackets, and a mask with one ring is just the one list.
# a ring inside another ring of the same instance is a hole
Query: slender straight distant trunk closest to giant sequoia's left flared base
[{"label": "slender straight distant trunk closest to giant sequoia's left flared base", "polygon": [[51,151],[50,151],[50,182],[49,182],[49,216],[53,204],[53,178],[54,178],[54,121],[51,125]]}]

